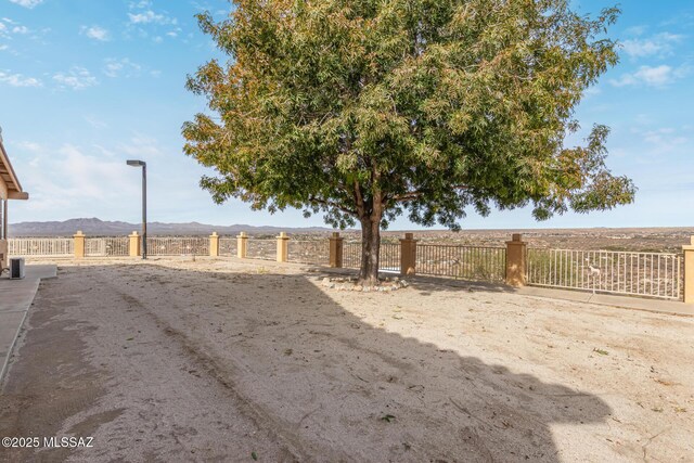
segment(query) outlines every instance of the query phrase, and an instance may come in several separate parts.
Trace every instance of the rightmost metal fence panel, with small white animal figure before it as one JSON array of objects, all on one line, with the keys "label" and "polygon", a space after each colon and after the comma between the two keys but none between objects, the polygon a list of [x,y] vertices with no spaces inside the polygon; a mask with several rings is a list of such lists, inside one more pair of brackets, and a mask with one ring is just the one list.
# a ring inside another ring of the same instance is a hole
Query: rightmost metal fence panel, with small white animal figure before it
[{"label": "rightmost metal fence panel, with small white animal figure before it", "polygon": [[527,283],[680,299],[682,256],[665,253],[528,249]]}]

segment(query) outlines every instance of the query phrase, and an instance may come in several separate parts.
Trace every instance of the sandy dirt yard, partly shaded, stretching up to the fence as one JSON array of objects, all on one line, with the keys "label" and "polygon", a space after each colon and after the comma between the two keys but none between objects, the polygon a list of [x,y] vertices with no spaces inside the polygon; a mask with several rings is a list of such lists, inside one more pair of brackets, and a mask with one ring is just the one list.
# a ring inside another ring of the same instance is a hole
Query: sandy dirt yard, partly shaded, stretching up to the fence
[{"label": "sandy dirt yard, partly shaded, stretching up to the fence", "polygon": [[197,259],[62,262],[29,311],[3,461],[694,462],[694,319]]}]

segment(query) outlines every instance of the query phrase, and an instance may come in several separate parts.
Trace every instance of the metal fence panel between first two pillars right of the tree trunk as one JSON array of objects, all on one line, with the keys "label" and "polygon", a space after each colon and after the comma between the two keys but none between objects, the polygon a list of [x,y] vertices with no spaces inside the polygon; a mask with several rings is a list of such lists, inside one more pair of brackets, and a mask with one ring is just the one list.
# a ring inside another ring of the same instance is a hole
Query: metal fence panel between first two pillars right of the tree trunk
[{"label": "metal fence panel between first two pillars right of the tree trunk", "polygon": [[506,248],[419,244],[416,273],[503,282],[506,275]]}]

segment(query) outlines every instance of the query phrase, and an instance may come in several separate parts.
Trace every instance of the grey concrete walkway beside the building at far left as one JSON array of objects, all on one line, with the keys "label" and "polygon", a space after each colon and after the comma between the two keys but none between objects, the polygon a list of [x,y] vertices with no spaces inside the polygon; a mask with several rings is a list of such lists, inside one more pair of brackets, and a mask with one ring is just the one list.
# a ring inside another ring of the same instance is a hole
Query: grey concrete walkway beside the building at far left
[{"label": "grey concrete walkway beside the building at far left", "polygon": [[56,276],[55,266],[27,266],[23,280],[10,280],[7,273],[0,278],[0,383],[39,283]]}]

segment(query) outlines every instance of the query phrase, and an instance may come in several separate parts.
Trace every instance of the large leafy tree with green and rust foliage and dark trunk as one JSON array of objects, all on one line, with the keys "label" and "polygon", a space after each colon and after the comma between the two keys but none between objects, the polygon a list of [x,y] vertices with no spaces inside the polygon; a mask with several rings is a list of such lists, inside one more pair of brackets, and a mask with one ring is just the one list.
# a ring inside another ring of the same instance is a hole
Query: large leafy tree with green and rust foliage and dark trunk
[{"label": "large leafy tree with green and rust foliage and dark trunk", "polygon": [[237,0],[198,16],[229,55],[190,76],[214,116],[185,123],[203,188],[271,211],[361,224],[360,276],[377,282],[381,229],[460,228],[466,208],[531,205],[541,220],[608,209],[634,188],[605,166],[608,129],[583,145],[583,92],[617,62],[595,17],[565,0]]}]

